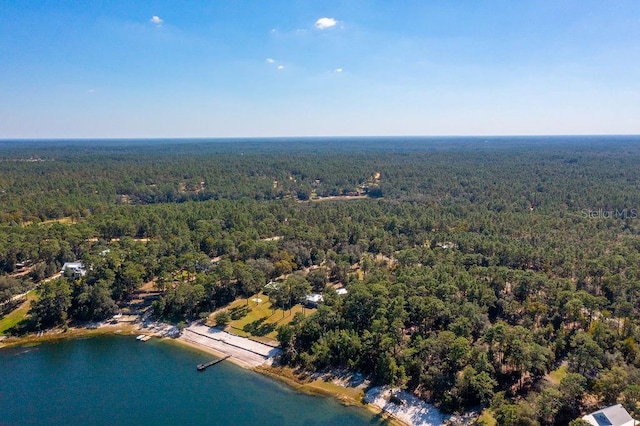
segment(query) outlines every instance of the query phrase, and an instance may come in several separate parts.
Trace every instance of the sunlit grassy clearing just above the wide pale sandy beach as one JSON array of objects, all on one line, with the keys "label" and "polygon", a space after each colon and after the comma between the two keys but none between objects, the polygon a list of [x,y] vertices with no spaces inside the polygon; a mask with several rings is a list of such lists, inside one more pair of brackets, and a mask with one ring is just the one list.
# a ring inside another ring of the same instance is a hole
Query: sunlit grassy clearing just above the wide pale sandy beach
[{"label": "sunlit grassy clearing just above the wide pale sandy beach", "polygon": [[[255,298],[262,301],[255,302],[252,300]],[[257,340],[269,343],[276,340],[278,326],[289,323],[297,312],[303,312],[303,307],[300,305],[285,311],[279,308],[272,309],[269,298],[262,293],[250,297],[248,305],[247,299],[238,299],[229,305],[227,310],[233,312],[234,310],[242,310],[244,307],[247,307],[248,310],[246,315],[233,319],[227,326],[227,330],[239,336],[253,336]],[[304,308],[303,313],[306,316],[313,312],[315,309]]]}]

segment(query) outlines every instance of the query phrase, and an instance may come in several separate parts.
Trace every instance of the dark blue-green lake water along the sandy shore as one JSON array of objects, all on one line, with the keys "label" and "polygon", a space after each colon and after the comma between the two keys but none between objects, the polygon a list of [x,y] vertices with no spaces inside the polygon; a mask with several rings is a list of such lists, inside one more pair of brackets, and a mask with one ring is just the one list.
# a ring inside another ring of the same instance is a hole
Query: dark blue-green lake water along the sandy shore
[{"label": "dark blue-green lake water along the sandy shore", "polygon": [[0,350],[0,425],[366,425],[367,411],[130,336]]}]

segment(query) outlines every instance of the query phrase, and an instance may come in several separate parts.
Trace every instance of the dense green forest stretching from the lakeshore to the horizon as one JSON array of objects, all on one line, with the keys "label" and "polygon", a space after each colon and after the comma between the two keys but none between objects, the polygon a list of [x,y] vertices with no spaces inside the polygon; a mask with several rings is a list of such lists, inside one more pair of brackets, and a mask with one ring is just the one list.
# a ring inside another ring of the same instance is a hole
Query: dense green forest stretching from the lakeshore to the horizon
[{"label": "dense green forest stretching from the lakeshore to the horizon", "polygon": [[287,280],[324,296],[288,365],[501,425],[640,416],[638,164],[638,137],[0,141],[0,306],[98,321],[154,281],[191,321]]}]

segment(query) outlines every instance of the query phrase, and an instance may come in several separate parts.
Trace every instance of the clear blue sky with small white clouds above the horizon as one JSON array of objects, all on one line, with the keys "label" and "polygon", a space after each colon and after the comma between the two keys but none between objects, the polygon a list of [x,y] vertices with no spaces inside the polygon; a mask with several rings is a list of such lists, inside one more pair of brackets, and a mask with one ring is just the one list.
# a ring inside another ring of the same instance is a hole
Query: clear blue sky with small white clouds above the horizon
[{"label": "clear blue sky with small white clouds above the horizon", "polygon": [[0,0],[0,138],[640,134],[640,1]]}]

